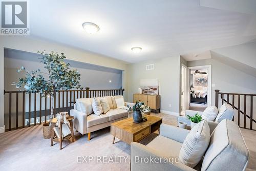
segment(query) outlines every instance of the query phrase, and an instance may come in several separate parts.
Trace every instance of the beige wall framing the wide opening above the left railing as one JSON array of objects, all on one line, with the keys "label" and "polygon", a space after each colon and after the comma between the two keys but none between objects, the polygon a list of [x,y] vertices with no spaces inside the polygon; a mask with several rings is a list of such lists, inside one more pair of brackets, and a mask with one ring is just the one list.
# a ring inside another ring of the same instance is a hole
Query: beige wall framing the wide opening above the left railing
[{"label": "beige wall framing the wide opening above the left railing", "polygon": [[[94,54],[84,50],[68,47],[66,45],[56,44],[46,40],[30,38],[26,36],[1,36],[0,38],[0,132],[4,126],[4,48],[22,50],[26,52],[36,53],[38,50],[46,50],[47,52],[56,51],[65,53],[67,59],[86,62],[93,65],[109,67],[125,71],[127,63],[110,58],[107,56]],[[126,75],[123,73],[123,88],[126,89]],[[126,89],[127,90],[127,89]],[[126,99],[126,92],[124,93]]]}]

